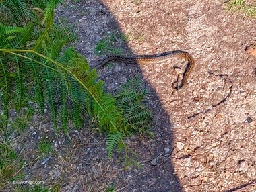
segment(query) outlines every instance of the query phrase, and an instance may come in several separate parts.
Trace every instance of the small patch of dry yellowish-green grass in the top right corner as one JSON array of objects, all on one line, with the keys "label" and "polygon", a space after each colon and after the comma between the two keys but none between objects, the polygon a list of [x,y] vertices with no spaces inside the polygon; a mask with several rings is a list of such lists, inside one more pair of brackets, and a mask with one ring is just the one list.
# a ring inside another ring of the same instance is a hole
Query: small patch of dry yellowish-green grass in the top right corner
[{"label": "small patch of dry yellowish-green grass in the top right corner", "polygon": [[242,13],[248,17],[256,16],[256,2],[248,4],[245,0],[228,0],[225,3],[226,9],[233,12]]}]

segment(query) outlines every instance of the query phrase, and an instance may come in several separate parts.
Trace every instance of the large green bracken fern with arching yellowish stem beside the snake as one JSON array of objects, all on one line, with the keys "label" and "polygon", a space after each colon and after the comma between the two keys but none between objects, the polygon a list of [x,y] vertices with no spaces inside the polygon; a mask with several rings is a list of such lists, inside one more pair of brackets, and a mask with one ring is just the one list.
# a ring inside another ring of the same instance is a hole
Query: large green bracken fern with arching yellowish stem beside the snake
[{"label": "large green bracken fern with arching yellowish stem beside the snake", "polygon": [[49,111],[56,133],[68,134],[69,122],[82,128],[85,121],[94,119],[97,130],[108,134],[106,148],[111,157],[117,145],[125,146],[125,136],[148,126],[150,112],[141,105],[146,92],[123,89],[113,97],[104,91],[96,69],[67,46],[72,38],[55,27],[54,9],[59,3],[0,3],[0,112],[5,119],[0,126],[6,132],[9,111],[14,108],[22,114],[29,102],[36,103],[41,114]]}]

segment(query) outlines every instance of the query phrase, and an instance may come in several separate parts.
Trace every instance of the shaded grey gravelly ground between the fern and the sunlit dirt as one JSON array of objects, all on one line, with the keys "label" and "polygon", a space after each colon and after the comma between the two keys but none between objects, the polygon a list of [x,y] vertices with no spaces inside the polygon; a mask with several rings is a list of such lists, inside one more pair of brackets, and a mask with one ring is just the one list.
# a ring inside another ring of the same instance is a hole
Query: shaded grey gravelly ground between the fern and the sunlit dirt
[{"label": "shaded grey gravelly ground between the fern and the sunlit dirt", "polygon": [[[110,38],[110,42],[102,50],[124,55],[133,54],[118,23],[101,1],[71,2],[59,7],[56,19],[71,26],[75,25],[79,40],[74,42],[74,46],[80,54],[88,58],[92,67],[104,56],[95,50],[96,44],[106,38]],[[143,79],[136,64],[115,63],[102,68],[98,73],[110,92],[118,90],[131,77],[139,76]],[[173,150],[170,118],[164,111],[158,94],[146,80],[143,86],[150,89],[145,102],[154,114],[152,132],[155,136],[134,136],[125,140],[139,155],[139,163],[125,154],[113,154],[114,158],[109,160],[105,136],[91,128],[70,132],[70,143],[64,134],[56,137],[51,131],[50,118],[46,116],[42,122],[39,118],[38,122],[33,119],[33,126],[38,129],[32,136],[28,134],[30,138],[24,141],[26,148],[21,149],[26,161],[32,162],[23,169],[26,173],[24,179],[44,181],[47,186],[58,186],[60,191],[111,191],[112,186],[114,191],[181,191],[170,158]],[[55,154],[42,165],[42,160],[35,159],[35,147],[38,138],[45,137],[55,142]],[[11,187],[13,186],[7,186],[5,191],[11,191]]]}]

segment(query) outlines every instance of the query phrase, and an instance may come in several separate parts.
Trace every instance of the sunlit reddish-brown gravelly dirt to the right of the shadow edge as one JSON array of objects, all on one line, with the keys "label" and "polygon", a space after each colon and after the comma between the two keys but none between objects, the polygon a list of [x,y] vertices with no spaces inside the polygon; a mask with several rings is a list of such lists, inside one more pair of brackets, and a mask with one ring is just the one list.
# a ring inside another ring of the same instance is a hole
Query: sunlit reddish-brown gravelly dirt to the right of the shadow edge
[{"label": "sunlit reddish-brown gravelly dirt to the right of the shadow edge", "polygon": [[136,54],[182,49],[195,57],[189,86],[174,95],[164,66],[141,66],[171,118],[172,163],[183,191],[256,190],[256,64],[245,52],[255,20],[224,11],[218,1],[104,2],[123,32],[144,34],[129,42]]}]

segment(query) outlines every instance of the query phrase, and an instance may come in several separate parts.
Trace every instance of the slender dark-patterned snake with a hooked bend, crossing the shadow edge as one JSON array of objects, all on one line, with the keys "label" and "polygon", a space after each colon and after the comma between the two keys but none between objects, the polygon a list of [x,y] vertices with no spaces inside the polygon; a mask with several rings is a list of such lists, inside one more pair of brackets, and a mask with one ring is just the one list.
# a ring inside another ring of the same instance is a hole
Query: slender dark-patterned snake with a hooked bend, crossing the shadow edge
[{"label": "slender dark-patterned snake with a hooked bend, crossing the shadow edge", "polygon": [[102,60],[100,60],[100,62],[96,66],[96,68],[100,69],[105,64],[107,64],[108,62],[113,61],[113,60],[122,62],[125,64],[134,64],[134,63],[137,63],[137,64],[159,64],[161,62],[166,62],[166,61],[170,60],[170,58],[175,58],[175,57],[185,58],[188,61],[187,66],[184,70],[183,79],[181,80],[180,85],[177,85],[176,87],[172,86],[172,88],[174,88],[176,91],[178,91],[179,89],[181,89],[187,85],[189,75],[191,74],[191,72],[195,66],[195,60],[194,60],[193,56],[191,56],[191,54],[189,54],[188,52],[185,52],[183,50],[164,52],[162,54],[136,55],[136,56],[119,56],[119,55],[115,55],[115,54],[110,54],[108,56],[105,56]]}]

